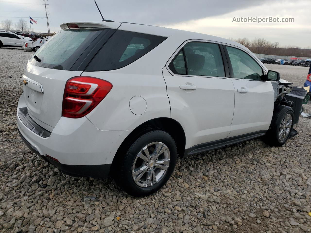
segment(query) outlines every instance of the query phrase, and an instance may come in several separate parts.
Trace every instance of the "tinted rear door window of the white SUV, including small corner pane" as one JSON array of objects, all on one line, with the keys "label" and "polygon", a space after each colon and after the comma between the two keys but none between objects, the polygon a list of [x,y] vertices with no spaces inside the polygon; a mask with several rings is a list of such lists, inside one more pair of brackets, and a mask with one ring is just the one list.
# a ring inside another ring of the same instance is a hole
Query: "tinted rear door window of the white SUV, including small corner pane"
[{"label": "tinted rear door window of the white SUV, including small corner pane", "polygon": [[216,43],[186,43],[169,68],[174,74],[225,77],[220,48]]}]

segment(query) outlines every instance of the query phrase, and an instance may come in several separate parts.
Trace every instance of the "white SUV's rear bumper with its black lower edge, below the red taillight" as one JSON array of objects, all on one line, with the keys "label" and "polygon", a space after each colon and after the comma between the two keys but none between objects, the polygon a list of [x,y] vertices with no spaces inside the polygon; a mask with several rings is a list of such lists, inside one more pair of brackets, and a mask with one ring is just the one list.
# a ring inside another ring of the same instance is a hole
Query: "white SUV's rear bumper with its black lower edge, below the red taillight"
[{"label": "white SUV's rear bumper with its black lower edge, below the red taillight", "polygon": [[[26,106],[22,94],[17,113]],[[26,145],[45,161],[76,176],[106,177],[113,158],[132,130],[99,130],[86,117],[61,117],[50,135],[28,125],[28,117],[17,114],[17,127]],[[45,136],[45,137],[44,137]],[[56,162],[47,156],[57,159]]]}]

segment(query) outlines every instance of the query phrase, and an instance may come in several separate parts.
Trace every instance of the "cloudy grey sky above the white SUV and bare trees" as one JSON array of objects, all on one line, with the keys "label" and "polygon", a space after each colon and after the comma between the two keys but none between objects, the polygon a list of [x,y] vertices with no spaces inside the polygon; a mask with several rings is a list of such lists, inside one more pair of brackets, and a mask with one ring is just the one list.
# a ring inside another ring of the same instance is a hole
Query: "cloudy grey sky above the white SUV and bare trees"
[{"label": "cloudy grey sky above the white SUV and bare trees", "polygon": [[[194,31],[223,38],[265,38],[280,46],[311,48],[311,0],[97,0],[105,19]],[[31,16],[35,32],[47,32],[44,0],[0,0],[0,22]],[[101,21],[93,0],[48,0],[50,30],[75,21]],[[11,18],[8,18],[11,17]],[[16,18],[12,18],[16,17]],[[294,18],[294,22],[238,22],[239,19]]]}]

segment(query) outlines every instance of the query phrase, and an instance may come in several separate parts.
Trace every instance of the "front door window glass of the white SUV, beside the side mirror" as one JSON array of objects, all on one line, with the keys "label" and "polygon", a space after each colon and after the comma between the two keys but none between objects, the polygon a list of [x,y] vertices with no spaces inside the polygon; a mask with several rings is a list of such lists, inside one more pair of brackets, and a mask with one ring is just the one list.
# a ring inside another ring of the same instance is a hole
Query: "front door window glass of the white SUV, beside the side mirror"
[{"label": "front door window glass of the white SUV, beside the side mirror", "polygon": [[261,66],[244,51],[226,46],[236,79],[264,80]]}]

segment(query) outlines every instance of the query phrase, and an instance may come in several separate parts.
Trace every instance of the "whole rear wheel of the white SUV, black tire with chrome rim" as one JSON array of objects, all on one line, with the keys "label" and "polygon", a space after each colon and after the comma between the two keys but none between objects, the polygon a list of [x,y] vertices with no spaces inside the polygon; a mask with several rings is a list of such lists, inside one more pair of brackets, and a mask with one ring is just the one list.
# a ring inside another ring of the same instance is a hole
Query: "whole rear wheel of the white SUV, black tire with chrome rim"
[{"label": "whole rear wheel of the white SUV, black tire with chrome rim", "polygon": [[152,130],[137,138],[115,164],[117,185],[134,197],[158,191],[169,180],[177,161],[177,147],[167,132]]}]

